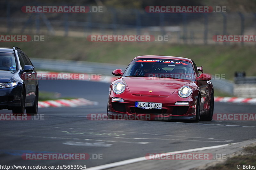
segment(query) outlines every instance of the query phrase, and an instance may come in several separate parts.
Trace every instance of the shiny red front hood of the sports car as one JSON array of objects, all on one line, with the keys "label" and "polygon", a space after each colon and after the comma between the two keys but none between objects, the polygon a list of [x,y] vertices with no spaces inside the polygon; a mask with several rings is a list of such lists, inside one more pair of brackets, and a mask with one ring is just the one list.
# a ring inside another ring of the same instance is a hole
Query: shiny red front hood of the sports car
[{"label": "shiny red front hood of the sports car", "polygon": [[150,77],[123,77],[123,80],[132,94],[157,96],[171,95],[180,87],[194,82],[170,78],[153,78],[152,80]]}]

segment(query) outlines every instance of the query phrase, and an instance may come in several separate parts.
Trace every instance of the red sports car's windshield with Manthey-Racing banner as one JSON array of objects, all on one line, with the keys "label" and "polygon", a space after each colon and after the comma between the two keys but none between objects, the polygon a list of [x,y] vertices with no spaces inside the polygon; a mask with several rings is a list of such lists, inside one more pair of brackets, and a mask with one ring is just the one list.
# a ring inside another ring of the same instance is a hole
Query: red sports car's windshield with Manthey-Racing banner
[{"label": "red sports car's windshield with Manthey-Racing banner", "polygon": [[172,59],[135,59],[127,67],[124,76],[195,80],[190,62]]}]

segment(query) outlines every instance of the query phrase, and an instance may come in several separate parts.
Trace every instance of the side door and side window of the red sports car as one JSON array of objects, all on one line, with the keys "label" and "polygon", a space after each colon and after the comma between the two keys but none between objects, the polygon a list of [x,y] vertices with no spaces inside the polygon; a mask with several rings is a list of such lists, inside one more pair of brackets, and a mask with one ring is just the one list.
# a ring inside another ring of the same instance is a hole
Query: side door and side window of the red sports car
[{"label": "side door and side window of the red sports car", "polygon": [[[199,77],[200,73],[197,70],[196,63],[193,62],[193,66],[196,72],[196,76]],[[200,92],[201,92],[201,104],[200,104],[200,110],[204,110],[204,106],[206,106],[207,102],[207,94],[208,94],[208,83],[206,81],[198,81],[200,86]]]}]

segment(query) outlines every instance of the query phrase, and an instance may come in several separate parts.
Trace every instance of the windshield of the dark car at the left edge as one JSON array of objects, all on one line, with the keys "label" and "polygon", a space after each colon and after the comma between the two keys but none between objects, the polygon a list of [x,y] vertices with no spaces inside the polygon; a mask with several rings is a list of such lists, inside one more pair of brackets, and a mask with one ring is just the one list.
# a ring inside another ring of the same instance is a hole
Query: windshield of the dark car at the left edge
[{"label": "windshield of the dark car at the left edge", "polygon": [[0,70],[16,71],[16,61],[13,53],[0,53]]}]

